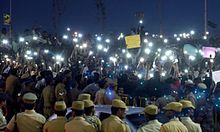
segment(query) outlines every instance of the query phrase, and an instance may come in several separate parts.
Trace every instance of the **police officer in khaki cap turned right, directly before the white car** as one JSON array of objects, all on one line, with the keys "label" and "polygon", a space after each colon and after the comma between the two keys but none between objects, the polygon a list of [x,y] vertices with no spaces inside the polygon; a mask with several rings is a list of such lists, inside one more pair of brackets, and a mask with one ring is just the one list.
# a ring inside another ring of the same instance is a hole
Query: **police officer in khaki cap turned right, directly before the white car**
[{"label": "police officer in khaki cap turned right, directly before the white car", "polygon": [[129,126],[122,121],[126,116],[127,106],[119,99],[112,101],[112,115],[102,121],[102,132],[130,132]]}]

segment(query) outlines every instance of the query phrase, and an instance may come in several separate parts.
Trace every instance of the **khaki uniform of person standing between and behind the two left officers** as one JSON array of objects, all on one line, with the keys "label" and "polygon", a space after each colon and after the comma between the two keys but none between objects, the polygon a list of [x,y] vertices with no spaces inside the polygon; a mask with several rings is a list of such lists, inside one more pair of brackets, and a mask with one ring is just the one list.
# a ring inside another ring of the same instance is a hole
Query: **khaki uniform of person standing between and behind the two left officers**
[{"label": "khaki uniform of person standing between and behind the two left officers", "polygon": [[54,89],[51,86],[47,86],[43,89],[42,92],[44,100],[44,116],[49,118],[53,114],[53,102],[54,100]]}]

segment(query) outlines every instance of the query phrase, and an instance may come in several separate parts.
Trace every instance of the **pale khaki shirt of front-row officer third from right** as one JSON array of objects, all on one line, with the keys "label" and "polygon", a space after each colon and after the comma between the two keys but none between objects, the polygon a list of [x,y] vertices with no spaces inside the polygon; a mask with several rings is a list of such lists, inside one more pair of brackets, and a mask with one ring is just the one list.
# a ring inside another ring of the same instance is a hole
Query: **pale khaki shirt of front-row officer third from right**
[{"label": "pale khaki shirt of front-row officer third from right", "polygon": [[159,132],[161,125],[162,123],[155,119],[140,127],[137,132]]}]

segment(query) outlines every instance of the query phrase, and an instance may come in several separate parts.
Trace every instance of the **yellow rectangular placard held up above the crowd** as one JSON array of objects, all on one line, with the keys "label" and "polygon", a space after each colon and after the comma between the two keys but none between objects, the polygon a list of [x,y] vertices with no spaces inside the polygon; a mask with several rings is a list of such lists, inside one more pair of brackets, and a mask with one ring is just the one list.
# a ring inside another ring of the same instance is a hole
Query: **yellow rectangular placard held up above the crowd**
[{"label": "yellow rectangular placard held up above the crowd", "polygon": [[128,49],[140,48],[141,47],[141,38],[140,35],[131,35],[125,37],[126,47]]}]

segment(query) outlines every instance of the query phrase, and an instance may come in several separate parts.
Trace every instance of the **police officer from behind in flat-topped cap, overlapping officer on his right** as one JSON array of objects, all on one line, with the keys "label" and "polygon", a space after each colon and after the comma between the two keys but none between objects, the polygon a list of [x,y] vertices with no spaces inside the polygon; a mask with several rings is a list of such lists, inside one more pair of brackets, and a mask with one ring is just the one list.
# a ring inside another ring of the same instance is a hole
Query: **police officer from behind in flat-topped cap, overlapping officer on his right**
[{"label": "police officer from behind in flat-topped cap, overlapping officer on his right", "polygon": [[95,132],[95,128],[89,124],[84,114],[84,102],[74,101],[72,103],[73,119],[64,126],[65,132]]}]

